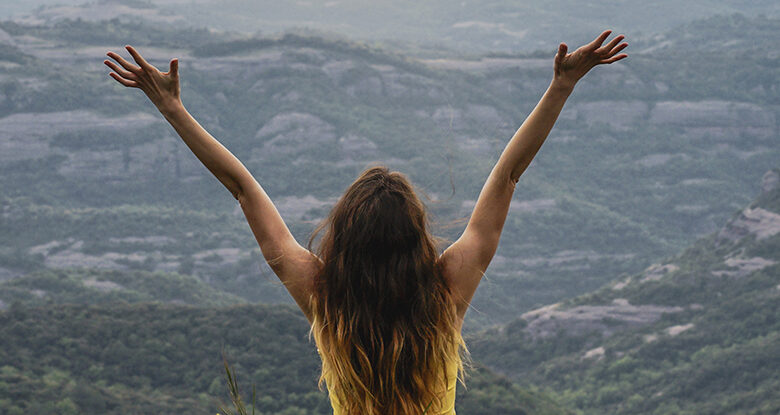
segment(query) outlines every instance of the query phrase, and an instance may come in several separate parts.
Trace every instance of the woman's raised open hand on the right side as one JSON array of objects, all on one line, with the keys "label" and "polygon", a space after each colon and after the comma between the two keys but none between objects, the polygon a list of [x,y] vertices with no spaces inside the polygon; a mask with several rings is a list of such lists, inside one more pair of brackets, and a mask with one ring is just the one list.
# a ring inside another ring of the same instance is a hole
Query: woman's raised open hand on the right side
[{"label": "woman's raised open hand on the right side", "polygon": [[566,53],[568,49],[566,44],[561,43],[558,46],[558,53],[555,55],[555,63],[553,64],[555,73],[553,83],[563,88],[574,88],[577,81],[585,76],[594,66],[617,62],[628,57],[625,53],[617,54],[628,46],[626,42],[618,45],[625,37],[623,35],[612,39],[609,43],[602,46],[610,33],[612,33],[611,30],[605,31],[593,42],[580,46],[569,54]]}]

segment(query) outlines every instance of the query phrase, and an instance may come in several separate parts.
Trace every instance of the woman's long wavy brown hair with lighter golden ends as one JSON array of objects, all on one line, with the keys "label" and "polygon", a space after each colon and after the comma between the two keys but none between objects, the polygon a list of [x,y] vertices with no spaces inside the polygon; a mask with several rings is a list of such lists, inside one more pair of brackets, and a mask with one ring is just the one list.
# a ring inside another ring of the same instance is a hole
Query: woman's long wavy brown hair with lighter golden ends
[{"label": "woman's long wavy brown hair with lighter golden ends", "polygon": [[[419,415],[441,405],[468,349],[437,264],[436,239],[409,180],[365,170],[316,228],[309,249],[323,261],[311,297],[314,336],[327,382],[349,415]],[[429,411],[430,413],[430,411]]]}]

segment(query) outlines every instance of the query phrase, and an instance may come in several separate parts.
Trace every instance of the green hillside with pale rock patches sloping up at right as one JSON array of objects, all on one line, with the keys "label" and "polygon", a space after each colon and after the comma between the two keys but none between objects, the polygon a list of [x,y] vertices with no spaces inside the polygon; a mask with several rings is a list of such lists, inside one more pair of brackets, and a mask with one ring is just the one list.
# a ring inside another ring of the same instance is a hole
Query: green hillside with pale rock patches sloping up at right
[{"label": "green hillside with pale rock patches sloping up at right", "polygon": [[719,231],[475,336],[474,356],[585,414],[780,411],[780,169]]}]

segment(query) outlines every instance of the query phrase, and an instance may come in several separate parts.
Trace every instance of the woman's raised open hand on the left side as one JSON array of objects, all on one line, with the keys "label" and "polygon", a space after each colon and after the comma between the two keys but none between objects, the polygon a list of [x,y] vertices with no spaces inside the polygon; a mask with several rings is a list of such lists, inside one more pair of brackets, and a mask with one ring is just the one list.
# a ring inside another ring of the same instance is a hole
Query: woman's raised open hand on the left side
[{"label": "woman's raised open hand on the left side", "polygon": [[179,60],[171,60],[168,72],[160,72],[159,69],[146,62],[132,46],[128,45],[125,48],[138,65],[133,65],[114,52],[108,52],[106,55],[119,63],[117,65],[108,59],[103,61],[114,71],[111,72],[111,77],[126,87],[139,88],[144,91],[160,112],[164,113],[181,105]]}]

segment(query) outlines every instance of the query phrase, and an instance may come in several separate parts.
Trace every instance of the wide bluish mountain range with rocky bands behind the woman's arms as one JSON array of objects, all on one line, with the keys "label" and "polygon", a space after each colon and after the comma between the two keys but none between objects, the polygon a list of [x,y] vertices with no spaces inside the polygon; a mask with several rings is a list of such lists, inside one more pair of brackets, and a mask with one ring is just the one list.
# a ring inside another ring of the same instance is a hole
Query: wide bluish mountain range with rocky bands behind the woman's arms
[{"label": "wide bluish mountain range with rocky bands behind the woman's arms", "polygon": [[[685,30],[739,38],[752,21]],[[758,21],[762,33],[780,27]],[[295,33],[237,38],[121,20],[0,30],[0,278],[73,266],[178,272],[266,303],[291,301],[237,203],[138,91],[105,75],[106,50],[132,43],[161,66],[179,57],[185,105],[302,243],[376,163],[408,174],[435,232],[457,238],[550,76],[549,56],[418,59]],[[768,38],[749,35],[754,49],[705,72],[696,62],[711,52],[663,41],[588,75],[518,184],[469,327],[638,272],[750,200],[778,159],[779,107],[778,58]]]}]

